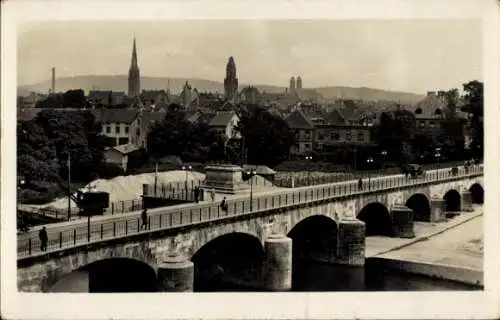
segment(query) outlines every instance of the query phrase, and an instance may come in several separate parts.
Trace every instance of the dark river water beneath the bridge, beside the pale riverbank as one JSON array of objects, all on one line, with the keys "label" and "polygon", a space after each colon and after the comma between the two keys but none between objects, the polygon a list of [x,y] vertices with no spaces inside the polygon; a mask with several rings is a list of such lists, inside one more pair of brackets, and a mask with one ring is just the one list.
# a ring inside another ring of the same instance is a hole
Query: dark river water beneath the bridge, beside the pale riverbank
[{"label": "dark river water beneath the bridge, beside the pale riverbank", "polygon": [[[364,267],[345,267],[321,262],[294,263],[292,291],[443,291],[482,290],[481,287],[454,281],[386,269],[378,260],[367,259]],[[195,283],[195,291],[259,291],[215,281]]]}]

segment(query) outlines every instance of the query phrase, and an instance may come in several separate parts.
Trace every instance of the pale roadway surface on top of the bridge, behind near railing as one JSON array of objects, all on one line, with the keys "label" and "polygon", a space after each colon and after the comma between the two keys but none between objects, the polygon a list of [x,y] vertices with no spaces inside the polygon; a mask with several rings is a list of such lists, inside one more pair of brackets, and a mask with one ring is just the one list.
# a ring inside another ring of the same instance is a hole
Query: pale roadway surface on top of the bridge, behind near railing
[{"label": "pale roadway surface on top of the bridge, behind near railing", "polygon": [[[428,170],[427,174],[432,175],[435,174],[437,170]],[[449,168],[444,168],[440,169],[440,173],[448,172]],[[390,175],[390,176],[385,176],[385,177],[375,177],[371,179],[371,182],[377,182],[377,181],[382,181],[382,180],[390,180],[394,178],[401,178],[403,177],[402,174],[397,174],[397,175]],[[367,182],[368,179],[365,179],[365,182]],[[419,179],[415,179],[414,183],[418,183]],[[329,186],[346,186],[346,190],[349,189],[349,187],[356,189],[357,188],[357,180],[351,180],[351,181],[344,181],[344,182],[338,182],[338,183],[330,183],[326,184]],[[408,183],[413,183],[412,180],[409,180]],[[300,188],[294,188],[294,189],[287,189],[286,191],[298,191],[298,190],[311,190],[311,188],[314,187],[320,187],[320,186],[307,186],[307,187],[300,187]],[[255,198],[259,198],[261,196],[265,197],[271,197],[273,194],[280,194],[283,193],[283,190],[277,190],[277,191],[265,191],[262,192],[261,194],[255,194]],[[235,200],[244,200],[248,199],[248,195],[239,195],[239,196],[232,196],[228,197],[229,204],[231,202],[234,202]],[[178,206],[173,206],[173,207],[165,207],[165,208],[156,208],[156,209],[150,209],[149,212],[149,217],[151,218],[151,229],[158,229],[159,228],[159,221],[158,218],[160,215],[164,215],[165,213],[170,213],[172,212],[180,212],[181,209],[195,209],[199,207],[200,205],[206,205],[208,202],[200,203],[200,204],[184,204],[184,205],[178,205]],[[135,212],[130,212],[126,214],[120,214],[120,215],[114,215],[114,216],[101,216],[101,217],[93,217],[90,219],[90,229],[91,229],[91,242],[92,241],[99,241],[101,238],[102,239],[110,239],[118,235],[123,235],[125,236],[124,230],[126,229],[128,233],[130,234],[139,234],[139,233],[147,233],[149,232],[148,230],[144,231],[139,231],[138,230],[138,224],[139,224],[139,219],[140,219],[140,211],[135,211]],[[116,226],[114,226],[114,222],[116,223]],[[165,225],[165,222],[164,224]],[[118,229],[121,228],[120,230],[114,230],[114,228],[117,227]],[[81,219],[81,220],[75,220],[75,221],[67,221],[67,222],[62,222],[62,223],[55,223],[55,224],[50,224],[47,225],[47,231],[49,234],[49,251],[53,249],[54,251],[57,251],[59,246],[61,245],[63,248],[68,247],[68,246],[74,246],[78,244],[85,244],[88,243],[87,239],[87,228],[88,228],[88,223],[87,219]],[[100,229],[100,230],[99,230]],[[33,228],[30,232],[20,234],[18,236],[18,256],[26,256],[26,254],[21,254],[21,252],[26,250],[26,247],[28,246],[28,239],[32,240],[32,243],[30,244],[32,254],[42,254],[39,252],[39,244],[38,244],[38,235],[37,235],[38,228]],[[61,233],[64,234],[60,238],[59,235]],[[71,232],[71,234],[69,234]],[[72,235],[73,232],[76,234],[76,240],[73,239]],[[71,242],[71,243],[69,243]]]}]

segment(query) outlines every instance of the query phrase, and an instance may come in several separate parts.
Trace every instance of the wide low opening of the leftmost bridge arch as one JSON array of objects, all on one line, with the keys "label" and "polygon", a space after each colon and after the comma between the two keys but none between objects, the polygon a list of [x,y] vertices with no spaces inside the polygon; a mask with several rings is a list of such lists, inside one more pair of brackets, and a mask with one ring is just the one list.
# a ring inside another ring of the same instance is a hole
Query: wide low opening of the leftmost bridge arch
[{"label": "wide low opening of the leftmost bridge arch", "polygon": [[61,277],[48,292],[156,292],[156,271],[147,263],[110,258],[88,264]]}]

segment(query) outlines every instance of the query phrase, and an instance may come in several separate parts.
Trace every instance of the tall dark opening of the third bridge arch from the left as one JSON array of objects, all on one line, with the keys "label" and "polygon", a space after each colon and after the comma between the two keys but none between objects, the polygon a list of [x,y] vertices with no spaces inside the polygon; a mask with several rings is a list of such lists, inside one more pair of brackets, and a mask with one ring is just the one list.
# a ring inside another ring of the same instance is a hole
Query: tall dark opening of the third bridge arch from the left
[{"label": "tall dark opening of the third bridge arch from the left", "polygon": [[[338,282],[329,264],[337,254],[337,223],[328,216],[314,215],[300,221],[288,237],[292,239],[292,290],[331,289]],[[314,276],[318,272],[321,276]]]}]

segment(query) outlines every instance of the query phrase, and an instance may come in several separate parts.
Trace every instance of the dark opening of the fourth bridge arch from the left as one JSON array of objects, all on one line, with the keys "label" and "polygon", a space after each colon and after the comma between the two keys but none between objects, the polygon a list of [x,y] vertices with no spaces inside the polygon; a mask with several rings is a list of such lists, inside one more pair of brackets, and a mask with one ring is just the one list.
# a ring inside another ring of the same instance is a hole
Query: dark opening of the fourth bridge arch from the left
[{"label": "dark opening of the fourth bridge arch from the left", "polygon": [[391,214],[380,202],[367,204],[357,214],[357,218],[365,223],[366,236],[393,236]]}]

